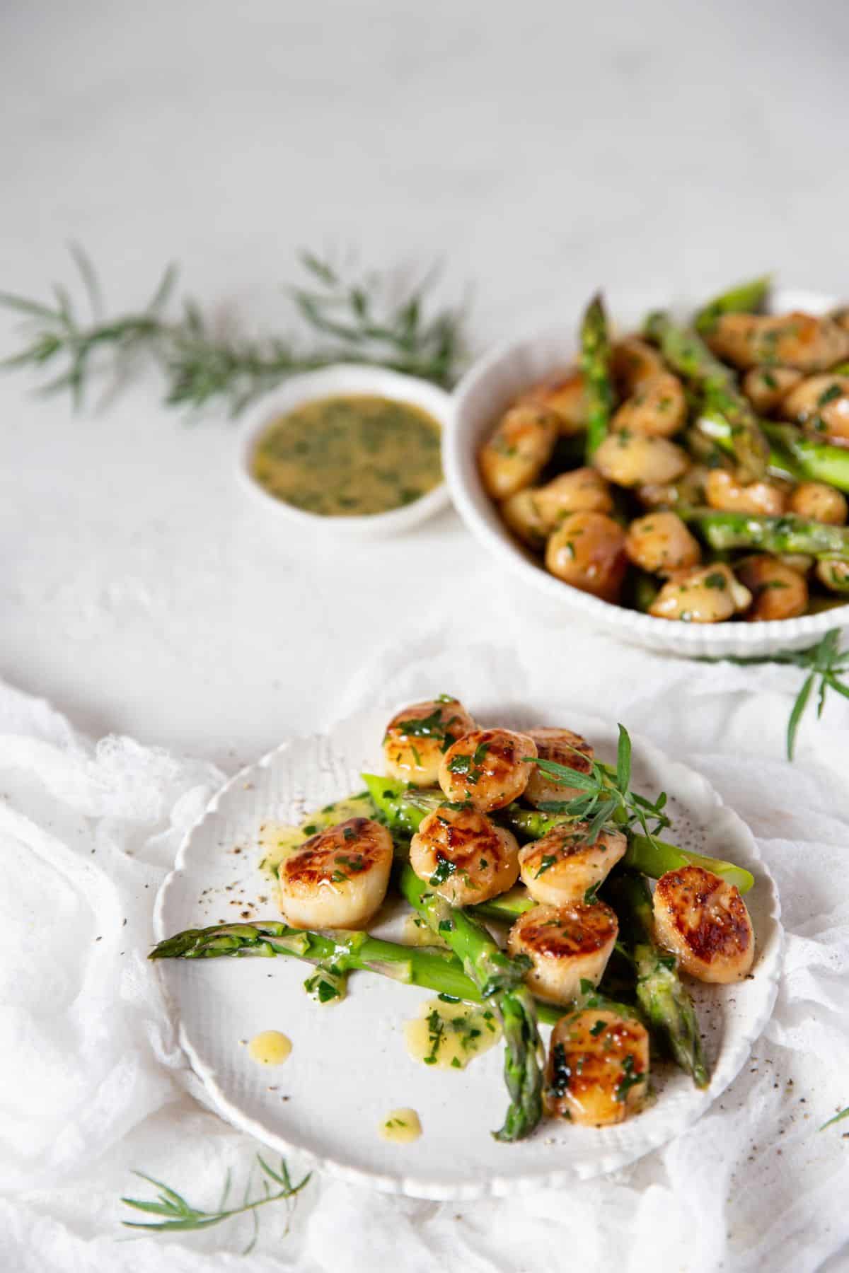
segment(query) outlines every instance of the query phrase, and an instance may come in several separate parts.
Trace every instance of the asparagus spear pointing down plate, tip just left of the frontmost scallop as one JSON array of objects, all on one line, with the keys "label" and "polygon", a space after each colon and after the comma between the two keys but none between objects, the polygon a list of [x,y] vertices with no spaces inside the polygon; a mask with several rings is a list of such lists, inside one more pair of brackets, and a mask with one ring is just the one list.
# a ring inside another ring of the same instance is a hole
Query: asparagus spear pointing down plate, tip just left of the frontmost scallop
[{"label": "asparagus spear pointing down plate, tip just left of the frontmost scallop", "polygon": [[410,866],[401,871],[401,891],[448,943],[466,975],[500,1017],[505,1044],[504,1080],[510,1104],[504,1127],[494,1136],[498,1141],[519,1141],[530,1136],[542,1118],[542,1043],[533,998],[524,984],[527,962],[505,955],[479,920],[451,906],[419,880]]}]

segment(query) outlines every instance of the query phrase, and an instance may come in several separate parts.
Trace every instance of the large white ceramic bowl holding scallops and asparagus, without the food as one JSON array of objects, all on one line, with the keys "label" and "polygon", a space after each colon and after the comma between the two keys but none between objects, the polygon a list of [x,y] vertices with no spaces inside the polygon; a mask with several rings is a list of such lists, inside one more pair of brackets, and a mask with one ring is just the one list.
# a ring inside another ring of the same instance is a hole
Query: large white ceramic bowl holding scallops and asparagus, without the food
[{"label": "large white ceramic bowl holding scallops and asparagus, without the food", "polygon": [[[619,331],[633,330],[662,298],[610,304]],[[822,313],[836,302],[820,293],[778,292],[776,312],[807,309]],[[526,600],[551,624],[566,626],[577,619],[620,640],[685,656],[768,654],[813,644],[830,628],[849,626],[849,606],[802,619],[746,624],[686,624],[653,619],[579,592],[538,564],[509,533],[477,472],[477,448],[499,415],[521,393],[575,359],[578,314],[559,326],[498,345],[479,359],[454,391],[454,410],[443,434],[443,467],[451,498],[480,544],[523,587]]]}]

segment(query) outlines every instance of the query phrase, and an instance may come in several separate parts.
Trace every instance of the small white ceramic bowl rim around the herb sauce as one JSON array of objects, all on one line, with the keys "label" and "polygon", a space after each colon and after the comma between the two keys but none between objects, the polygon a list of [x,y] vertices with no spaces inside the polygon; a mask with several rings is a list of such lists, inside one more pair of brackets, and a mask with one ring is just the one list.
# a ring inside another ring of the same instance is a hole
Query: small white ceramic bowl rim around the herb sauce
[{"label": "small white ceramic bowl rim around the herb sauce", "polygon": [[304,402],[316,398],[335,397],[344,393],[373,393],[378,397],[409,402],[421,407],[439,421],[446,435],[452,411],[451,395],[428,381],[412,376],[401,376],[382,367],[359,367],[355,363],[337,363],[321,372],[308,372],[294,376],[274,393],[267,393],[246,412],[243,428],[239,432],[238,470],[247,490],[272,516],[288,522],[298,522],[303,527],[330,531],[335,535],[382,536],[396,535],[410,530],[432,517],[448,504],[448,488],[444,481],[421,495],[411,504],[393,508],[388,513],[374,513],[365,517],[321,517],[308,513],[293,504],[271,495],[251,474],[251,461],[257,442],[266,428],[277,416],[293,411]]}]

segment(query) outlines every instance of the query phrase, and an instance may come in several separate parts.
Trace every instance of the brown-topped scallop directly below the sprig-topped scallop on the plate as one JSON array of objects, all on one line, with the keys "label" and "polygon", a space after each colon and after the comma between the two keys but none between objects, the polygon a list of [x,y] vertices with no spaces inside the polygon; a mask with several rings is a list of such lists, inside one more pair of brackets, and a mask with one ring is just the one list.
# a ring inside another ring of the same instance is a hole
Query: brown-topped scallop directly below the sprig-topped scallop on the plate
[{"label": "brown-topped scallop directly below the sprig-topped scallop on the plate", "polygon": [[575,901],[568,906],[535,906],[510,928],[510,955],[527,955],[532,967],[527,983],[549,1003],[572,1003],[582,981],[598,985],[607,967],[619,922],[603,901]]}]

